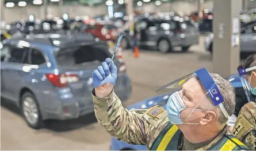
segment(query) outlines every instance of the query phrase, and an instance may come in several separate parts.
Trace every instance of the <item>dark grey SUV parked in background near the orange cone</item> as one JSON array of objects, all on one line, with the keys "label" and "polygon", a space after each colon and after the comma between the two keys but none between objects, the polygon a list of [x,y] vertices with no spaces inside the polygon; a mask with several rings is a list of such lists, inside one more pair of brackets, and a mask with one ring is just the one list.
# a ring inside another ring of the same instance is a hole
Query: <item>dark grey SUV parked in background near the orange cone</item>
[{"label": "dark grey SUV parked in background near the orange cone", "polygon": [[[191,45],[198,44],[199,32],[190,21],[180,17],[167,17],[168,19],[139,19],[136,29],[139,30],[139,45],[158,49],[161,53],[174,50],[181,46],[182,51],[188,51]],[[122,39],[124,49],[133,45],[129,31]]]}]

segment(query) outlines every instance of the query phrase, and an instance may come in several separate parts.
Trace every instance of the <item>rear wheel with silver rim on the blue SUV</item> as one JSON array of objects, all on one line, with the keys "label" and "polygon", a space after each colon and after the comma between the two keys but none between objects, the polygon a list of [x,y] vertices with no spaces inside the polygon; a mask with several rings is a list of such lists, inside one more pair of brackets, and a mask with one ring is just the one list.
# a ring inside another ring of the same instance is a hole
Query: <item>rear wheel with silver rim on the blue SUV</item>
[{"label": "rear wheel with silver rim on the blue SUV", "polygon": [[41,117],[39,104],[37,103],[36,97],[30,92],[25,92],[21,97],[21,114],[24,117],[26,124],[31,128],[43,128],[44,123]]}]

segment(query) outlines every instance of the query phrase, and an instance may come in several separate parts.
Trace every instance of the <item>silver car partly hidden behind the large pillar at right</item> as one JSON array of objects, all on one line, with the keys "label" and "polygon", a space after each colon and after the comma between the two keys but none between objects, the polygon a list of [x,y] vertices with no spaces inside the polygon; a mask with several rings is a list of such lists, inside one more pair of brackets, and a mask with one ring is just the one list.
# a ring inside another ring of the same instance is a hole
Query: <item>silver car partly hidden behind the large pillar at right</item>
[{"label": "silver car partly hidden behind the large pillar at right", "polygon": [[[208,34],[205,37],[204,46],[205,49],[212,53],[213,47],[213,33]],[[256,47],[256,20],[245,23],[240,31],[240,52],[242,53],[251,53],[255,52]]]}]

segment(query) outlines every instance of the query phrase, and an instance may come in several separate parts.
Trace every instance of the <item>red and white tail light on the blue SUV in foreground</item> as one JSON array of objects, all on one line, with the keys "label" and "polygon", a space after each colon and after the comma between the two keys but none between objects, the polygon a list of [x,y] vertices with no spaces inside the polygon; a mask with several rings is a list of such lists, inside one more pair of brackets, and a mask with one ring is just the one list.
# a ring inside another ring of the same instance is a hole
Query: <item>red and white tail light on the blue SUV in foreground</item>
[{"label": "red and white tail light on the blue SUV in foreground", "polygon": [[67,87],[68,83],[78,82],[79,78],[75,74],[45,74],[49,82],[51,82],[54,86],[63,88]]}]

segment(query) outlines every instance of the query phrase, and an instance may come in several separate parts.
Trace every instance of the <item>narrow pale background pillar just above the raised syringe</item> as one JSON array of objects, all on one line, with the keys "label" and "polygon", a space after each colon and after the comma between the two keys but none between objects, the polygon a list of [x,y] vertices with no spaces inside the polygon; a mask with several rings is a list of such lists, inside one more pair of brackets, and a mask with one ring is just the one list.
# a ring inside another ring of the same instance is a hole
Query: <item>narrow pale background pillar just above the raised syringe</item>
[{"label": "narrow pale background pillar just above the raised syringe", "polygon": [[127,0],[126,3],[126,11],[127,16],[129,17],[129,29],[130,29],[130,35],[133,35],[133,20],[134,20],[134,11],[133,11],[133,1]]}]

